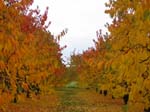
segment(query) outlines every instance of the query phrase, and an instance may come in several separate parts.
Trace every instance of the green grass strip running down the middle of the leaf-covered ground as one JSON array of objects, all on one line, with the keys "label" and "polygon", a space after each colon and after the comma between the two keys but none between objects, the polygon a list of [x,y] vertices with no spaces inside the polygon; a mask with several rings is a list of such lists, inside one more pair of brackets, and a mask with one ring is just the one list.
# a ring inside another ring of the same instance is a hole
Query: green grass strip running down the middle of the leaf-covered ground
[{"label": "green grass strip running down the middle of the leaf-covered ground", "polygon": [[58,112],[85,112],[84,108],[86,103],[80,99],[77,94],[82,91],[81,89],[62,88],[57,89],[60,96],[60,105]]}]

